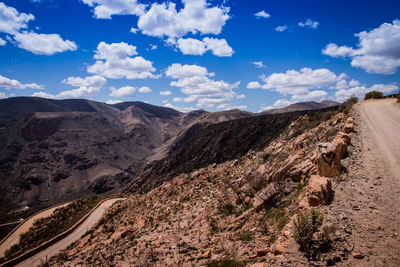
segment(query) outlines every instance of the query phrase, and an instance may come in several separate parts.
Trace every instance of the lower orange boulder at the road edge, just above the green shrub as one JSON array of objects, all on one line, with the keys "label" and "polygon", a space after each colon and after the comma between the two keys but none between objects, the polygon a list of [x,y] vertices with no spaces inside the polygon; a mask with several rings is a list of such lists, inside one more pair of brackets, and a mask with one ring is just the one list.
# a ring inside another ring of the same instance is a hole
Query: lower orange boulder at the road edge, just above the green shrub
[{"label": "lower orange boulder at the road edge, just above the green shrub", "polygon": [[328,196],[333,194],[332,183],[329,178],[311,175],[307,190],[308,203],[310,206],[318,206],[325,201],[322,195],[322,187],[326,190]]}]

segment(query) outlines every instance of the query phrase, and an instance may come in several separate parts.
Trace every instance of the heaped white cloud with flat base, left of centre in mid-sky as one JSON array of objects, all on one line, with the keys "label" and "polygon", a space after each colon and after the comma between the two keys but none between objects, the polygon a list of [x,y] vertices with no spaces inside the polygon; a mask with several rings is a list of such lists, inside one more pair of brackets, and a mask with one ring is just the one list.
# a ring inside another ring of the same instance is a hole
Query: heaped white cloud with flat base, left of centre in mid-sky
[{"label": "heaped white cloud with flat base, left of centre in mid-sky", "polygon": [[121,43],[100,42],[94,58],[97,61],[87,68],[89,73],[111,79],[157,78],[153,63],[137,55],[136,46]]}]

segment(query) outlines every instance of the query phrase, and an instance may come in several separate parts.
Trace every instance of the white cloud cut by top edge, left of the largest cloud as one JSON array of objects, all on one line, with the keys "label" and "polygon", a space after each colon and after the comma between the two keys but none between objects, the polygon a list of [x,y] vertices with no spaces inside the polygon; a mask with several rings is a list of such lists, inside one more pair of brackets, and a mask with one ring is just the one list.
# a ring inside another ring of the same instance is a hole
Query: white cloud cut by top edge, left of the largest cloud
[{"label": "white cloud cut by top edge, left of the largest cloud", "polygon": [[112,15],[143,15],[146,6],[137,0],[82,0],[93,8],[97,19],[111,19]]}]

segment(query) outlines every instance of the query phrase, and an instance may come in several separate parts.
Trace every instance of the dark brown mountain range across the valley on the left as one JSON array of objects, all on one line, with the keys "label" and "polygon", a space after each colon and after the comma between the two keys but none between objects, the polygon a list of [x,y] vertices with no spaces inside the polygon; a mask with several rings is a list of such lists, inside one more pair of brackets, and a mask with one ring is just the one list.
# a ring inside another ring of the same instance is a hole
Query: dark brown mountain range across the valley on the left
[{"label": "dark brown mountain range across the valley on the left", "polygon": [[207,125],[250,116],[239,110],[179,111],[141,102],[0,100],[0,215],[28,213],[118,189]]}]

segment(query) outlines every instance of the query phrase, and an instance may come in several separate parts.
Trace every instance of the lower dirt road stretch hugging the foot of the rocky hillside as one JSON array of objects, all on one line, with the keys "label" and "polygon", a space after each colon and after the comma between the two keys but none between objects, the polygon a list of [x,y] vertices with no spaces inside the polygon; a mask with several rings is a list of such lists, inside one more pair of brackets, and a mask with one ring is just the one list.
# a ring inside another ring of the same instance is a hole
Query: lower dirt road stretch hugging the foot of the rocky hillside
[{"label": "lower dirt road stretch hugging the foot of the rocky hillside", "polygon": [[55,243],[54,245],[48,247],[42,252],[34,255],[33,257],[21,262],[17,266],[40,266],[46,259],[51,258],[56,255],[60,250],[65,249],[71,243],[80,239],[83,234],[85,234],[91,227],[93,227],[103,216],[104,212],[111,207],[118,200],[123,200],[123,198],[110,199],[103,202],[93,213],[84,221],[75,231],[73,231],[69,236]]}]

